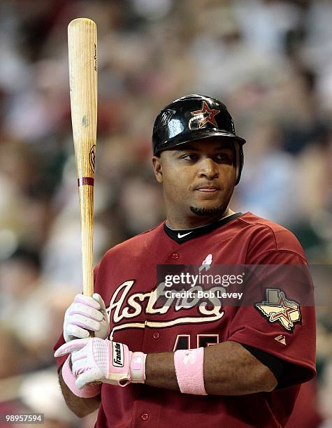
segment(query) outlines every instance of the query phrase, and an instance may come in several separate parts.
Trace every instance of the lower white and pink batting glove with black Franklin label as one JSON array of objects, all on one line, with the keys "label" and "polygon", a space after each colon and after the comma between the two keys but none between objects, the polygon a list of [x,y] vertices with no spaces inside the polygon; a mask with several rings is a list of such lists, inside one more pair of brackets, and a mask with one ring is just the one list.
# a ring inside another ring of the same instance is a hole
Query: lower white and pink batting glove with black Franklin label
[{"label": "lower white and pink batting glove with black Franklin label", "polygon": [[131,352],[124,343],[101,338],[82,338],[64,343],[55,357],[71,352],[75,385],[80,390],[93,382],[111,383],[122,387],[129,383],[145,382],[143,352]]}]

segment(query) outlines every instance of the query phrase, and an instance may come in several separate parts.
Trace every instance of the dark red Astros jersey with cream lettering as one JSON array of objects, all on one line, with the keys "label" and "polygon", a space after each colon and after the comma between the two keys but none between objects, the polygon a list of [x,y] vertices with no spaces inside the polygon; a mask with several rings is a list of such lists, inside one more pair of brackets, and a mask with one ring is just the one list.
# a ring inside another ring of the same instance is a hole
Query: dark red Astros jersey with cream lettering
[{"label": "dark red Astros jersey with cream lettering", "polygon": [[[95,291],[110,314],[110,340],[126,343],[129,350],[173,352],[236,341],[268,352],[288,369],[273,392],[239,397],[103,384],[96,427],[284,426],[299,384],[315,376],[315,308],[296,304],[282,285],[273,287],[274,302],[266,295],[250,306],[156,307],[157,264],[305,265],[303,249],[290,231],[252,213],[173,231],[173,236],[161,223],[108,250],[95,269]],[[275,318],[270,306],[277,308]],[[57,359],[59,367],[64,359]]]}]

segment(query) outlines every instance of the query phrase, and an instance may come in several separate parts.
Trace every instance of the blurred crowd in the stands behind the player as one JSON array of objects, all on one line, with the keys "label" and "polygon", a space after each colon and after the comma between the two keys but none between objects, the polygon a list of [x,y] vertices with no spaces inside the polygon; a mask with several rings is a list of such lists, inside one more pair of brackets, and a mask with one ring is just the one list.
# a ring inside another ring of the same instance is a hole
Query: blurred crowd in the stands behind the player
[{"label": "blurred crowd in the stands behind the player", "polygon": [[[332,1],[1,0],[0,413],[92,427],[59,393],[52,346],[81,290],[66,27],[99,36],[94,256],[164,218],[154,118],[189,93],[224,101],[247,139],[231,208],[279,222],[332,264]],[[330,278],[331,280],[331,278]],[[294,427],[332,427],[332,315]],[[295,415],[294,415],[295,418]],[[1,425],[1,424],[0,424]]]}]

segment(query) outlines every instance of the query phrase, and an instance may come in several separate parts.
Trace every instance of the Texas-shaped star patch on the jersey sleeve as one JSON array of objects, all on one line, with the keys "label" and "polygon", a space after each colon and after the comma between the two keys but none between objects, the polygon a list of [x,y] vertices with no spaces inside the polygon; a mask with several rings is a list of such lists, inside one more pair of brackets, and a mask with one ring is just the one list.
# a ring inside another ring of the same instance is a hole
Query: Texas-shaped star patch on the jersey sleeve
[{"label": "Texas-shaped star patch on the jersey sleeve", "polygon": [[295,324],[301,322],[300,305],[287,299],[284,292],[268,288],[266,301],[255,305],[269,322],[279,322],[282,327],[291,331]]}]

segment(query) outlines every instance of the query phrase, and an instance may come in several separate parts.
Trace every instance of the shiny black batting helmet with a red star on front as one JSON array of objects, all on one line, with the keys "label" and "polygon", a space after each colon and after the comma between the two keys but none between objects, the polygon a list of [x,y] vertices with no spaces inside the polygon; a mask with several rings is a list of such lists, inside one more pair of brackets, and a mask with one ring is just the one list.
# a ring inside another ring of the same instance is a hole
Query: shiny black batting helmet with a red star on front
[{"label": "shiny black batting helmet with a red star on front", "polygon": [[204,95],[186,95],[164,107],[154,121],[153,154],[189,141],[220,137],[234,141],[236,148],[236,185],[243,169],[245,140],[235,133],[234,122],[221,101]]}]

